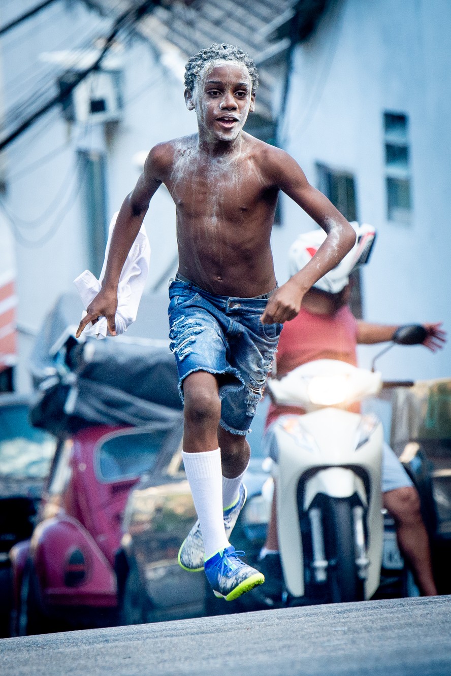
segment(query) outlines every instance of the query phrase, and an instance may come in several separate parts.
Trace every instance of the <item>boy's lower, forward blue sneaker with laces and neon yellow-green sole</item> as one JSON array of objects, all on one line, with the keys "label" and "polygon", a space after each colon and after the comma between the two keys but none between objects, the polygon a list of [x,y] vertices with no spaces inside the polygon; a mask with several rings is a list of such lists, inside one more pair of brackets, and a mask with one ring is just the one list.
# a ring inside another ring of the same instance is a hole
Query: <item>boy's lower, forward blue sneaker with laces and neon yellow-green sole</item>
[{"label": "boy's lower, forward blue sneaker with laces and neon yellow-green sole", "polygon": [[264,575],[241,561],[244,552],[236,552],[230,546],[214,554],[205,562],[205,574],[213,589],[214,596],[233,601],[264,583]]}]

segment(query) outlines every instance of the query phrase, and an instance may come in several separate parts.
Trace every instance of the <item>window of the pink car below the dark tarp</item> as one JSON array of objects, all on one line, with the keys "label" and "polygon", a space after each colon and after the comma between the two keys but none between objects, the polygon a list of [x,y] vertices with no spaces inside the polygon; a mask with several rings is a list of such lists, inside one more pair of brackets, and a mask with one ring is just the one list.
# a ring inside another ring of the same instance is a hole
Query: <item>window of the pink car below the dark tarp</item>
[{"label": "window of the pink car below the dark tarp", "polygon": [[168,431],[116,433],[97,447],[97,474],[101,481],[133,479],[153,468]]}]

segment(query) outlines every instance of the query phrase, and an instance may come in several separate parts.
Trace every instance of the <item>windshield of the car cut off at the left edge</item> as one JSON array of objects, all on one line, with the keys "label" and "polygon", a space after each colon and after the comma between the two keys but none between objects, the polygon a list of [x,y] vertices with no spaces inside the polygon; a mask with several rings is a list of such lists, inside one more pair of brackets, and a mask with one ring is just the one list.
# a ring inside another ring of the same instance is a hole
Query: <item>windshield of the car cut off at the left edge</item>
[{"label": "windshield of the car cut off at the left edge", "polygon": [[45,479],[55,448],[55,437],[28,422],[28,406],[0,408],[0,476]]}]

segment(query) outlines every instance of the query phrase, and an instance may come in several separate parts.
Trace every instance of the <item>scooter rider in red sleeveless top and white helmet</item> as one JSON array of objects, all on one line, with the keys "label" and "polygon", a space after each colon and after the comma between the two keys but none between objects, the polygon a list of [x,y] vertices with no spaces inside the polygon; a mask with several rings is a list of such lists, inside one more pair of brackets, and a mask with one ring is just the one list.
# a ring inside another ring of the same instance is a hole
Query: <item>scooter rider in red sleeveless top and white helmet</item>
[{"label": "scooter rider in red sleeveless top and white helmet", "polygon": [[[358,239],[354,249],[304,295],[298,316],[285,322],[277,352],[278,378],[306,362],[319,359],[335,359],[356,366],[358,343],[389,341],[399,328],[357,320],[350,310],[350,274],[368,261],[375,239],[375,231],[371,226],[355,226]],[[291,274],[298,272],[310,261],[323,239],[321,231],[312,231],[298,237],[289,252]],[[423,345],[435,352],[446,341],[446,333],[441,329],[440,323],[423,326],[427,331]],[[358,408],[356,410],[355,406],[350,410],[357,412]],[[304,411],[296,406],[271,404],[266,418],[266,431],[279,416],[302,413]],[[400,550],[412,568],[421,594],[434,596],[437,590],[432,575],[429,539],[421,516],[419,494],[396,454],[386,443],[383,448],[381,484],[383,505],[396,523]],[[283,575],[275,496],[272,500],[266,542],[260,552],[260,568],[267,574],[266,579],[272,580],[272,588],[267,588],[265,594],[280,597]]]}]

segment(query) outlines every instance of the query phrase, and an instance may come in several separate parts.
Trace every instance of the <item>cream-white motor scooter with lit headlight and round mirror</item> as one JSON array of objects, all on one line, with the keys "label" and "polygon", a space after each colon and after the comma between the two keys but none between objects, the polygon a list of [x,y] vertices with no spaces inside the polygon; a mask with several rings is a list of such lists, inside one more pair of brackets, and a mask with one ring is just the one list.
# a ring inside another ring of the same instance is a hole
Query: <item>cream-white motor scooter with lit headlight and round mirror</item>
[{"label": "cream-white motor scooter with lit headlight and round mirror", "polygon": [[[389,347],[419,344],[425,337],[419,325],[401,327]],[[268,383],[277,404],[306,412],[281,416],[267,436],[285,596],[291,599],[364,600],[379,587],[383,429],[373,414],[348,410],[383,387],[374,364],[369,371],[316,360]]]}]

